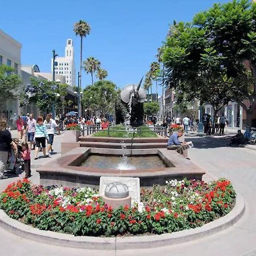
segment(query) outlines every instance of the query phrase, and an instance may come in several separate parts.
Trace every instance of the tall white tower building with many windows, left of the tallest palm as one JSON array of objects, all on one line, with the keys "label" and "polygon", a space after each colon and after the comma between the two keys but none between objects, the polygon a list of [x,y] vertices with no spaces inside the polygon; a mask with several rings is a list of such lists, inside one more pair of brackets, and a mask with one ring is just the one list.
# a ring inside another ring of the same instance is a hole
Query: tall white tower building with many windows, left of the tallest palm
[{"label": "tall white tower building with many windows, left of the tallest palm", "polygon": [[[52,60],[53,61],[53,60]],[[51,71],[53,71],[53,65],[51,61]],[[65,57],[55,58],[55,75],[65,76],[65,83],[70,86],[76,85],[76,69],[74,59],[74,49],[72,39],[67,40],[65,47]]]}]

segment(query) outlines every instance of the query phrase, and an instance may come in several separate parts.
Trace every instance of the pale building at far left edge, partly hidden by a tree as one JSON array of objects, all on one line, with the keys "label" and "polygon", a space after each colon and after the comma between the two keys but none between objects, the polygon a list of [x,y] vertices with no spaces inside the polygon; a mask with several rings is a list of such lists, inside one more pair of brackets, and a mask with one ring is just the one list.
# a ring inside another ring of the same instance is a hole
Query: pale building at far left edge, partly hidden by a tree
[{"label": "pale building at far left edge, partly hidden by a tree", "polygon": [[[5,64],[13,67],[14,73],[19,76],[21,76],[21,48],[22,44],[0,30],[0,65]],[[19,92],[17,92],[17,97],[6,100],[2,113],[0,113],[2,116],[9,119],[9,126],[11,127],[15,125],[16,118],[20,114],[18,94]]]}]

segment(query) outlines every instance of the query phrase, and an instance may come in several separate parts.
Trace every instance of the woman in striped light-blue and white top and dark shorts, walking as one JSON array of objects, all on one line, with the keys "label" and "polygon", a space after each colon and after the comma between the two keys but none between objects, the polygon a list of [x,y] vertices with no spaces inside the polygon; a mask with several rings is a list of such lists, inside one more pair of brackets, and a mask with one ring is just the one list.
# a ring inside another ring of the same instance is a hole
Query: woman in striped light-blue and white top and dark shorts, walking
[{"label": "woman in striped light-blue and white top and dark shorts, walking", "polygon": [[46,126],[44,125],[44,119],[43,117],[38,117],[36,120],[36,126],[35,126],[35,141],[36,141],[36,148],[35,148],[35,160],[38,159],[38,152],[40,146],[43,148],[43,154],[46,158],[48,155],[46,155],[46,139],[49,139],[49,136],[47,134]]}]

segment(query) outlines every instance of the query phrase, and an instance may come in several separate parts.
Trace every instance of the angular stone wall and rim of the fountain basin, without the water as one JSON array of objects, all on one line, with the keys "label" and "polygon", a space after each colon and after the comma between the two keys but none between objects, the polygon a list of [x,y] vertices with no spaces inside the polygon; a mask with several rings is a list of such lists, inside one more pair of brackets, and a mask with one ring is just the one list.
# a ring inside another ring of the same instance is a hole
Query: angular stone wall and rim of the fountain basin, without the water
[{"label": "angular stone wall and rim of the fountain basin, without the water", "polygon": [[[131,154],[131,150],[126,150]],[[154,184],[165,185],[166,180],[202,179],[205,171],[190,160],[179,155],[174,150],[166,148],[148,148],[133,150],[133,155],[158,155],[166,167],[142,168],[139,170],[113,170],[81,166],[90,154],[121,156],[123,151],[114,148],[77,147],[60,156],[56,160],[38,168],[40,184],[63,185],[67,187],[98,188],[101,176],[139,177],[141,187],[151,187]]]}]

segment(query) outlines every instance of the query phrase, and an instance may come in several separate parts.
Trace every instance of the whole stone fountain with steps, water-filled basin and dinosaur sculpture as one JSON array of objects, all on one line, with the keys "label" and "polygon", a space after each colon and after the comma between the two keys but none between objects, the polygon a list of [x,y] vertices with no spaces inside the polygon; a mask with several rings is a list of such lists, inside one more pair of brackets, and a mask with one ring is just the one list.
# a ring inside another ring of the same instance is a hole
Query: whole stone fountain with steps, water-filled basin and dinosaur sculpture
[{"label": "whole stone fountain with steps, water-filled basin and dinosaur sculpture", "polygon": [[[127,85],[121,99],[129,111],[125,117],[126,138],[80,137],[80,142],[62,143],[60,158],[38,168],[42,185],[98,187],[100,177],[136,177],[142,187],[165,185],[166,180],[202,179],[204,170],[176,151],[167,150],[168,138],[134,138],[135,129],[142,125],[146,90]],[[133,133],[133,138],[129,134]],[[121,143],[120,143],[121,142]],[[66,146],[67,150],[62,151]],[[133,156],[133,157],[131,157]]]}]

